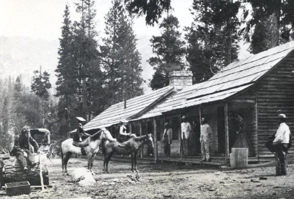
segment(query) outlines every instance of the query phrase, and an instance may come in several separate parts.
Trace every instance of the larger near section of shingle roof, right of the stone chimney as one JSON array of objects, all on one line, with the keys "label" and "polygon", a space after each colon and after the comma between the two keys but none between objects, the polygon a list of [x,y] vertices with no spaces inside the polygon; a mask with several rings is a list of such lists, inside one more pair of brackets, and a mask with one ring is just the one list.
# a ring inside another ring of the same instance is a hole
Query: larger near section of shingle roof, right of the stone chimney
[{"label": "larger near section of shingle roof, right of the stone chimney", "polygon": [[[229,64],[209,80],[186,87],[153,110],[133,120],[175,109],[223,100],[253,85],[294,49],[294,41]],[[161,112],[159,112],[160,110]]]}]

